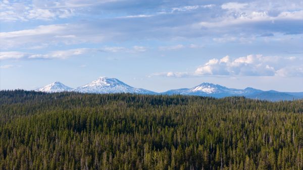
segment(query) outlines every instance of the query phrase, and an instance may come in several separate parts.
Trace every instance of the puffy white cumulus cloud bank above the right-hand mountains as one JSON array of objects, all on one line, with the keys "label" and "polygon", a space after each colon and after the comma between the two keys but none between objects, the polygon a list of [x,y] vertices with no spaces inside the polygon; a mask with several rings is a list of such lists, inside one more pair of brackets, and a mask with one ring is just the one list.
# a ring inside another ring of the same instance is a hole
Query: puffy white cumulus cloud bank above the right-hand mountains
[{"label": "puffy white cumulus cloud bank above the right-hand mountains", "polygon": [[[194,75],[232,75],[232,76],[274,76],[282,75],[289,65],[295,64],[294,60],[283,57],[271,57],[263,55],[247,55],[245,57],[230,59],[225,56],[221,59],[211,59],[194,71]],[[281,65],[281,63],[284,63]],[[295,66],[297,71],[301,65]],[[288,76],[297,76],[298,74],[287,74]],[[285,74],[286,75],[286,74]]]}]

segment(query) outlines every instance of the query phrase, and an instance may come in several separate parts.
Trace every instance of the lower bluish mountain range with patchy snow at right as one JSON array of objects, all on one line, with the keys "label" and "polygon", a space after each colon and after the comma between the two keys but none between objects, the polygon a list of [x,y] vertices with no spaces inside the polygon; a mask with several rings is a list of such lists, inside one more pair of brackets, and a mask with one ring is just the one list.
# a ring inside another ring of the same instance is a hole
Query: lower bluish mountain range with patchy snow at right
[{"label": "lower bluish mountain range with patchy snow at right", "polygon": [[260,99],[269,101],[294,100],[303,99],[303,93],[283,93],[277,91],[262,91],[254,88],[231,89],[204,82],[191,89],[176,89],[162,93],[164,95],[194,95],[194,96],[209,96],[215,98],[224,98],[230,96],[244,96],[250,99]]}]

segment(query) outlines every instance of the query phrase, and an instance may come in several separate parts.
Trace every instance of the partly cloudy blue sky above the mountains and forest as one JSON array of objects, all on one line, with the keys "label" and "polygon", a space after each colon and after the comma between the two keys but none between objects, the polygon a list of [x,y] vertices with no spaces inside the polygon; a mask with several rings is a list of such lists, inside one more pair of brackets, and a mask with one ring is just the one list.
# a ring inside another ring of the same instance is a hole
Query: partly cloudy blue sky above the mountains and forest
[{"label": "partly cloudy blue sky above the mountains and forest", "polygon": [[303,92],[303,1],[0,1],[0,89],[99,76]]}]

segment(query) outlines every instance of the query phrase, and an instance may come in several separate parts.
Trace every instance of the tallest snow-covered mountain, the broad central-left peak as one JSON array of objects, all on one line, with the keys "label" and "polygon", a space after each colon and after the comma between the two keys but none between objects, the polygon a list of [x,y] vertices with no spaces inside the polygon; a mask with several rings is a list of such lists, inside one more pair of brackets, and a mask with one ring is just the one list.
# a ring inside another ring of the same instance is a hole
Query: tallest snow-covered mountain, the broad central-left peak
[{"label": "tallest snow-covered mountain, the broad central-left peak", "polygon": [[134,93],[134,94],[149,94],[155,95],[156,92],[151,92],[145,89],[133,88],[126,83],[120,81],[117,78],[98,77],[96,80],[78,87],[73,92],[79,93],[96,93],[96,94],[108,94],[108,93]]}]

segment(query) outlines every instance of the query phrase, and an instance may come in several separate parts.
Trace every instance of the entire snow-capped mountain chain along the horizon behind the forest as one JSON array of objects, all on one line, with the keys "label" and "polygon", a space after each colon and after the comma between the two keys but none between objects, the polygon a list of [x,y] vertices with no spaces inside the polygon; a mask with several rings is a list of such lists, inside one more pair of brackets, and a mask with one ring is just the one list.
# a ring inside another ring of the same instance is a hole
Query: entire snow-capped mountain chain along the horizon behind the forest
[{"label": "entire snow-capped mountain chain along the horizon behind the forest", "polygon": [[109,78],[100,76],[78,88],[70,88],[59,81],[55,81],[42,88],[37,89],[39,92],[56,93],[56,92],[78,92],[78,93],[94,93],[94,94],[112,94],[112,93],[131,93],[131,94],[147,94],[147,95],[188,95],[188,96],[208,96],[215,98],[224,98],[231,96],[243,96],[250,99],[260,99],[269,101],[295,100],[303,99],[303,92],[278,92],[278,91],[262,91],[247,87],[245,89],[233,89],[214,84],[203,82],[193,88],[173,89],[166,92],[157,93],[145,89],[134,88],[120,81],[117,78]]}]

